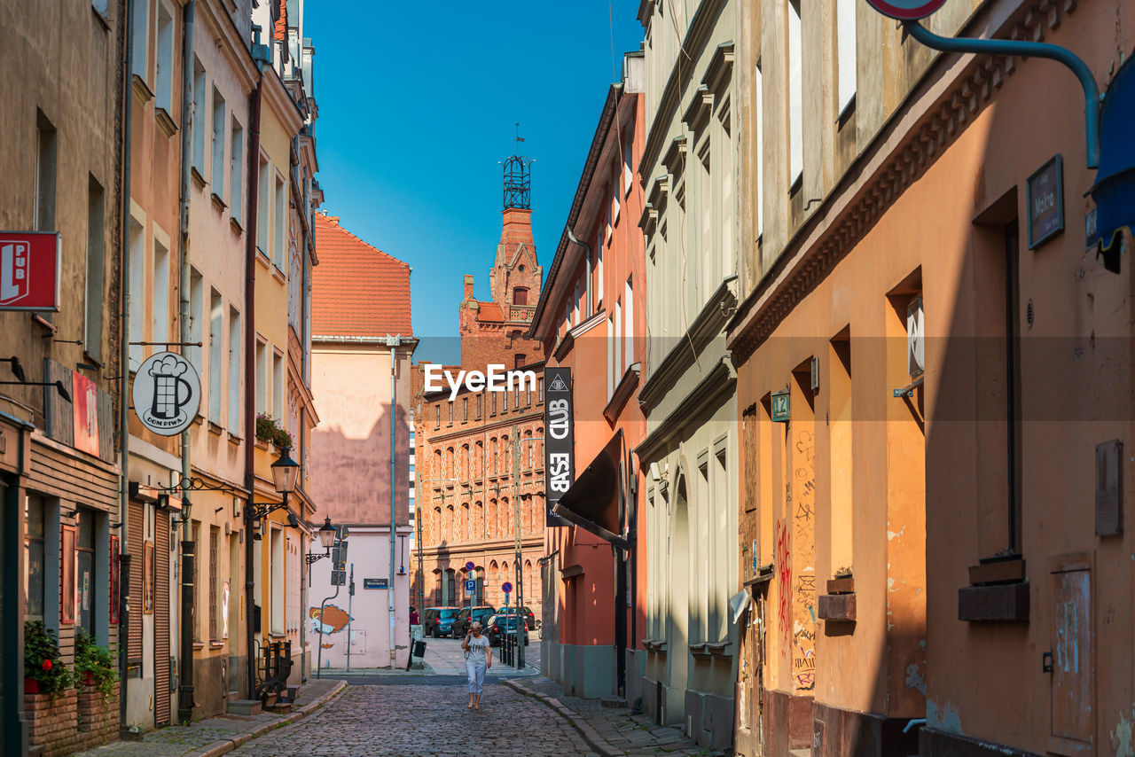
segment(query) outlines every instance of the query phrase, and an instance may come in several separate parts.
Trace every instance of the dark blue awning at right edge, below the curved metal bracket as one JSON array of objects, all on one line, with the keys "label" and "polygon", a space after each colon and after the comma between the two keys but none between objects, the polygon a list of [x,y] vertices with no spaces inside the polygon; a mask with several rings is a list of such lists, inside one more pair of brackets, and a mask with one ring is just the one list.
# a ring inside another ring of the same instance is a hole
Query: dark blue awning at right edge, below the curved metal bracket
[{"label": "dark blue awning at right edge, below the curved metal bracket", "polygon": [[1111,79],[1100,110],[1100,169],[1092,186],[1095,229],[1104,266],[1119,271],[1119,233],[1135,227],[1135,66],[1128,59]]}]

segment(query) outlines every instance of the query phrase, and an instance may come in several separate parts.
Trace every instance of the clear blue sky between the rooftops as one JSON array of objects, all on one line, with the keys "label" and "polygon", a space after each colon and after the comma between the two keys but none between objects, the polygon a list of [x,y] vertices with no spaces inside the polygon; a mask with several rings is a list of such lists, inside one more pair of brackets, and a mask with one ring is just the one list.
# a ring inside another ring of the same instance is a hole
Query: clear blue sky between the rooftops
[{"label": "clear blue sky between the rooftops", "polygon": [[[346,6],[346,8],[345,8]],[[637,2],[308,2],[323,208],[409,262],[418,359],[457,362],[462,276],[488,298],[516,121],[545,271]],[[614,67],[612,66],[612,27]]]}]

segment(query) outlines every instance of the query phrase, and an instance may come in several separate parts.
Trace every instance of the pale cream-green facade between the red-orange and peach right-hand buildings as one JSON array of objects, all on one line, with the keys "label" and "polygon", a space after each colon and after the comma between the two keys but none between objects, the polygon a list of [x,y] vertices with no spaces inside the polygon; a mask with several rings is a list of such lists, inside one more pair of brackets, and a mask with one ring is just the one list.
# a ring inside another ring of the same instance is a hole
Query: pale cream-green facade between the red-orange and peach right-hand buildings
[{"label": "pale cream-green facade between the red-orange and peach right-hand buildings", "polygon": [[646,140],[638,170],[649,212],[641,219],[648,336],[639,388],[647,430],[637,455],[650,473],[639,528],[654,561],[642,706],[713,748],[732,738],[737,671],[728,600],[740,439],[725,325],[739,292],[733,57],[742,5],[639,7]]}]

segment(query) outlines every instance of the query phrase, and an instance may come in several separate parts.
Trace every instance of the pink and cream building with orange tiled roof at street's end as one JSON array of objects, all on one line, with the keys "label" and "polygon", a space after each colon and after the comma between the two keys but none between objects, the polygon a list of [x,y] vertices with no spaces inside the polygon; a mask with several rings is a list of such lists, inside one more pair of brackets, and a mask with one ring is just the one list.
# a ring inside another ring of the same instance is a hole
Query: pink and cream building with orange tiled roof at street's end
[{"label": "pink and cream building with orange tiled roof at street's end", "polygon": [[[320,424],[311,496],[348,533],[338,564],[321,560],[310,569],[309,654],[325,667],[401,668],[410,639],[406,451],[418,344],[410,266],[333,216],[316,216],[316,250],[311,387]],[[308,550],[322,554],[319,540]]]}]

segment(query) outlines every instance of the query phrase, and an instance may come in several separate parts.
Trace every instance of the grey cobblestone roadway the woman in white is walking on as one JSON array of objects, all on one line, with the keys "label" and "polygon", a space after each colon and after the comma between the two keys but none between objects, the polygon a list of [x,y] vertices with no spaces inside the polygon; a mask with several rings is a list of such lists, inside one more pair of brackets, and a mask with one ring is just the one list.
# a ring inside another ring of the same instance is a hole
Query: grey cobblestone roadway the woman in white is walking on
[{"label": "grey cobblestone roadway the woman in white is walking on", "polygon": [[486,683],[480,712],[463,684],[350,685],[309,717],[232,752],[242,757],[493,757],[591,755],[563,717],[501,683]]}]

